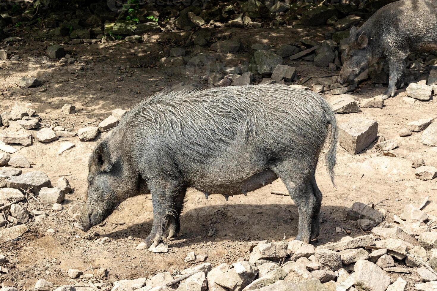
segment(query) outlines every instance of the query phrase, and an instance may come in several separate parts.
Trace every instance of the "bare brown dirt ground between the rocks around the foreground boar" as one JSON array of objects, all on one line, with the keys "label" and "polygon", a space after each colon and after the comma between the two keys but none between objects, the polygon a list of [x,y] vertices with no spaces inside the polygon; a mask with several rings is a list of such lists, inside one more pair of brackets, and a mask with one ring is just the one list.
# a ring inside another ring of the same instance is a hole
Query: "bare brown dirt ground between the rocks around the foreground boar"
[{"label": "bare brown dirt ground between the rocks around the foreground boar", "polygon": [[[327,28],[326,28],[327,29]],[[224,32],[226,31],[226,32]],[[265,43],[272,47],[291,40],[309,38],[324,39],[325,27],[282,27],[259,29],[208,29],[205,33],[214,38],[226,34],[229,39],[241,41],[245,47],[242,53],[225,55],[230,64],[250,60],[250,46]],[[42,118],[42,125],[61,125],[77,132],[89,124],[97,125],[116,108],[129,109],[143,97],[182,81],[194,82],[191,75],[169,73],[168,67],[160,65],[165,55],[162,48],[166,44],[178,45],[189,37],[190,32],[168,32],[146,35],[143,43],[127,42],[108,44],[69,45],[66,39],[47,39],[45,31],[21,30],[17,36],[23,41],[2,45],[19,56],[18,60],[0,62],[0,110],[10,111],[15,103],[29,104]],[[45,49],[52,44],[62,43],[67,53],[76,58],[73,65],[61,66],[47,58]],[[164,46],[162,46],[164,44]],[[188,57],[201,52],[211,52],[209,47],[188,48]],[[300,76],[298,84],[305,77],[333,75],[326,68],[316,68],[312,62],[287,61],[297,67]],[[337,72],[338,73],[338,72]],[[334,72],[335,74],[335,72]],[[23,76],[37,77],[43,82],[38,88],[21,89],[18,82]],[[208,84],[202,81],[204,87]],[[311,83],[311,82],[309,82]],[[356,90],[357,98],[367,98],[381,94],[385,88],[376,88],[370,81],[364,82]],[[421,181],[414,177],[410,160],[421,156],[426,164],[437,165],[437,149],[420,143],[420,133],[411,137],[397,134],[406,123],[425,117],[437,117],[435,100],[404,103],[405,88],[386,100],[383,108],[364,108],[362,113],[337,115],[339,123],[358,117],[378,121],[380,136],[398,140],[399,147],[392,152],[397,157],[384,157],[381,151],[370,146],[361,154],[348,154],[338,146],[336,187],[329,181],[323,159],[316,173],[317,183],[323,192],[323,217],[320,236],[313,243],[320,245],[334,242],[342,236],[362,235],[354,221],[346,219],[346,211],[354,202],[380,202],[378,209],[384,208],[392,214],[400,214],[406,204],[419,205],[424,197],[435,197],[435,180]],[[326,94],[326,98],[332,96]],[[76,106],[77,113],[63,115],[61,107],[65,103]],[[0,129],[0,135],[3,129]],[[35,130],[32,130],[35,134]],[[72,150],[62,155],[56,151],[62,140],[76,144]],[[204,195],[189,189],[187,201],[181,216],[181,232],[175,239],[166,240],[168,253],[150,253],[135,250],[135,246],[148,235],[152,224],[150,195],[128,199],[114,212],[104,226],[96,226],[88,234],[73,229],[74,219],[68,214],[69,205],[84,199],[86,191],[87,159],[96,142],[81,142],[75,138],[61,138],[48,144],[35,141],[30,147],[18,147],[31,161],[32,168],[23,171],[41,170],[53,181],[61,176],[69,179],[74,191],[66,195],[64,209],[54,213],[51,207],[38,205],[32,199],[28,209],[41,209],[49,213],[45,225],[28,223],[30,231],[20,240],[0,246],[0,253],[13,258],[7,264],[9,274],[1,275],[0,282],[11,280],[24,289],[31,289],[40,278],[55,284],[71,284],[67,276],[69,268],[85,270],[93,274],[100,267],[108,268],[108,281],[149,277],[162,270],[181,270],[190,264],[184,263],[187,253],[195,250],[207,254],[207,261],[213,266],[223,262],[232,263],[239,257],[248,257],[247,242],[251,240],[293,240],[297,234],[298,212],[293,201],[287,196],[272,195],[271,191],[286,192],[280,180],[274,181],[246,197],[237,195],[226,202],[221,195]],[[431,200],[433,200],[431,198]],[[436,215],[437,202],[431,201],[426,211]],[[124,224],[123,224],[124,223]],[[351,233],[336,233],[335,227],[350,228]],[[208,236],[209,229],[216,232]],[[55,229],[48,234],[47,229]],[[97,235],[97,232],[99,235]],[[102,237],[110,241],[100,244]],[[132,237],[132,238],[130,238]],[[390,273],[392,278],[399,274]],[[409,281],[414,276],[402,275]]]}]

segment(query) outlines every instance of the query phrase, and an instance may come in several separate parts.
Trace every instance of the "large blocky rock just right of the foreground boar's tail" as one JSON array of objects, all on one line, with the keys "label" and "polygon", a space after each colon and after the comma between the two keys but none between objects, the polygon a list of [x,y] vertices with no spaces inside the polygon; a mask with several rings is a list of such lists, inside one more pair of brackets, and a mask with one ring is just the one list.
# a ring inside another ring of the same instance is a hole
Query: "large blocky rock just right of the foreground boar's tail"
[{"label": "large blocky rock just right of the foreground boar's tail", "polygon": [[350,154],[358,154],[368,147],[378,134],[375,120],[355,119],[339,126],[339,143]]}]

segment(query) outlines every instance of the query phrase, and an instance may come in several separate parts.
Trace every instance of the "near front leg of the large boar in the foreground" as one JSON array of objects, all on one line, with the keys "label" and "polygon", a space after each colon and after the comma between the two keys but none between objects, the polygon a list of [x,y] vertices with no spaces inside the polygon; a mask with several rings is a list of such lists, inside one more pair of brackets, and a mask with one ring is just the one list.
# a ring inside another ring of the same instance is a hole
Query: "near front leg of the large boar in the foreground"
[{"label": "near front leg of the large boar in the foreground", "polygon": [[172,213],[173,198],[180,188],[170,181],[148,181],[152,193],[153,224],[149,236],[136,246],[137,250],[148,249],[152,244],[158,245],[163,236],[164,227]]}]

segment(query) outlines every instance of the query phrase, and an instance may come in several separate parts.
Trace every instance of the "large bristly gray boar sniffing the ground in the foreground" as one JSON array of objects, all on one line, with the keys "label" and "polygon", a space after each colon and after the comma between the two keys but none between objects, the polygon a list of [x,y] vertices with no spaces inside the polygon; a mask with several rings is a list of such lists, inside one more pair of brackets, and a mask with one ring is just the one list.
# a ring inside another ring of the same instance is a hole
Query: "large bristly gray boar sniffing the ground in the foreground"
[{"label": "large bristly gray boar sniffing the ground in the foreground", "polygon": [[128,197],[151,193],[153,226],[137,246],[143,250],[179,232],[187,187],[227,200],[281,178],[298,207],[296,239],[308,243],[319,235],[314,172],[325,142],[333,180],[335,115],[307,90],[267,84],[157,94],[97,144],[75,226],[88,231]]}]

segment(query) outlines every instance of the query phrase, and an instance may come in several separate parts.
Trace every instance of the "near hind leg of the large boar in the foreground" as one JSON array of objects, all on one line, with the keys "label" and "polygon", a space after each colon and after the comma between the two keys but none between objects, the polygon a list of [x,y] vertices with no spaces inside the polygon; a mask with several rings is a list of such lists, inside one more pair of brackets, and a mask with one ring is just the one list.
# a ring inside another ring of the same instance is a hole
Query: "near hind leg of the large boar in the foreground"
[{"label": "near hind leg of the large boar in the foreground", "polygon": [[299,213],[299,230],[295,240],[301,240],[304,243],[309,243],[311,240],[311,229],[313,223],[313,214],[317,208],[316,196],[312,193],[311,175],[313,173],[302,175],[303,173],[295,172],[293,168],[299,168],[295,162],[291,161],[289,165],[284,163],[277,164],[274,169],[276,174],[284,182],[290,193],[291,199],[298,207]]}]

